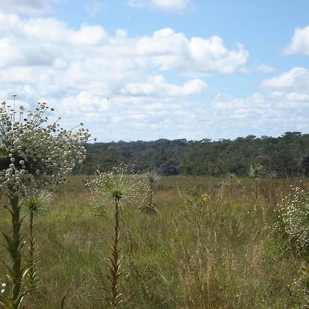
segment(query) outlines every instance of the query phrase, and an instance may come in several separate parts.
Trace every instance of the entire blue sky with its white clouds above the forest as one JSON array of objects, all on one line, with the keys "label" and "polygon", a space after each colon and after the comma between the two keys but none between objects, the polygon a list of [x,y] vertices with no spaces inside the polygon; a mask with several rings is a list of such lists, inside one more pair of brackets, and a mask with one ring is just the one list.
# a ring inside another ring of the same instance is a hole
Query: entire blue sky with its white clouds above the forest
[{"label": "entire blue sky with its white clouds above the forest", "polygon": [[0,100],[98,141],[309,133],[308,0],[1,0]]}]

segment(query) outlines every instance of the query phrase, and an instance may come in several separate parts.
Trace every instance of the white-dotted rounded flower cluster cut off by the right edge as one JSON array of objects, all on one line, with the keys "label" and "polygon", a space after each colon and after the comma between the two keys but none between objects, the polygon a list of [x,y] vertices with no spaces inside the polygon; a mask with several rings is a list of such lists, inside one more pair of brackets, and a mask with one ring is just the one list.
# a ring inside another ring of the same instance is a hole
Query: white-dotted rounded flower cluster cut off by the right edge
[{"label": "white-dotted rounded flower cluster cut off by the right edge", "polygon": [[[282,199],[279,218],[284,230],[299,249],[309,249],[309,192],[304,187],[293,187],[292,192]],[[278,222],[280,225],[280,222]]]}]

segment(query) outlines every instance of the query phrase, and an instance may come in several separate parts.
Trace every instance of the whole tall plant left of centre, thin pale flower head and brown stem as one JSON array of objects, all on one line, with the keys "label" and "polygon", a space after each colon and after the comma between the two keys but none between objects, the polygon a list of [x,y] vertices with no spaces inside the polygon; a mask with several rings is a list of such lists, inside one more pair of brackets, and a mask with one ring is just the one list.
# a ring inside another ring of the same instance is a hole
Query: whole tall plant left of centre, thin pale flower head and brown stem
[{"label": "whole tall plant left of centre, thin pale flower head and brown stem", "polygon": [[140,180],[139,175],[128,173],[126,165],[120,165],[119,168],[113,168],[108,173],[98,173],[94,179],[89,181],[87,185],[90,187],[93,196],[93,203],[95,209],[106,207],[113,203],[115,205],[115,224],[113,244],[111,247],[112,257],[108,259],[108,268],[110,275],[108,279],[111,281],[111,288],[108,290],[110,293],[109,303],[111,308],[118,308],[121,303],[119,293],[119,277],[120,272],[120,255],[119,251],[119,207],[123,203],[132,203],[133,199],[139,194],[143,182]]}]

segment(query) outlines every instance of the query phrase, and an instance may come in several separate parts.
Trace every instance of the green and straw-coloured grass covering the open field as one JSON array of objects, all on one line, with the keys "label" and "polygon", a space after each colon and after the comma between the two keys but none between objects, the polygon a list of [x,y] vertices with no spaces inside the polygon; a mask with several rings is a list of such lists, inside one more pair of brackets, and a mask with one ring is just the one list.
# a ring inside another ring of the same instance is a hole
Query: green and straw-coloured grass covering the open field
[{"label": "green and straw-coloured grass covering the open field", "polygon": [[[93,216],[85,180],[71,176],[34,223],[41,286],[25,308],[60,308],[63,297],[65,308],[108,308],[113,207]],[[122,308],[306,308],[305,256],[288,251],[274,229],[276,203],[298,181],[263,180],[255,201],[250,179],[222,186],[224,179],[170,176],[155,190],[159,213],[139,212],[141,198],[125,205]],[[210,203],[187,196],[192,187],[211,196]],[[9,223],[1,207],[1,229]],[[3,247],[0,259],[8,260]]]}]

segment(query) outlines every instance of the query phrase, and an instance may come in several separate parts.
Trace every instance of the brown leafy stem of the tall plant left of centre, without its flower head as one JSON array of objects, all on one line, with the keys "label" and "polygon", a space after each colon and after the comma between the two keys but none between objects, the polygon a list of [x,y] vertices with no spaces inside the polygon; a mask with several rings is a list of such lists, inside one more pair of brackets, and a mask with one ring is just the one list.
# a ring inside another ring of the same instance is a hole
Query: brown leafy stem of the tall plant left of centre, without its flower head
[{"label": "brown leafy stem of the tall plant left of centre, without its flower head", "polygon": [[111,308],[116,309],[117,305],[120,303],[119,301],[119,283],[118,279],[119,276],[122,274],[120,273],[120,258],[119,258],[119,251],[118,249],[118,242],[119,242],[119,196],[115,196],[115,226],[114,226],[114,236],[113,236],[113,245],[111,248],[112,258],[109,259],[111,264],[108,266],[111,275],[109,279],[111,280]]}]

